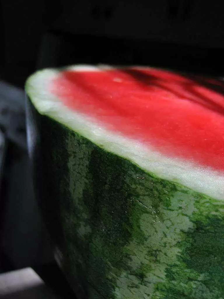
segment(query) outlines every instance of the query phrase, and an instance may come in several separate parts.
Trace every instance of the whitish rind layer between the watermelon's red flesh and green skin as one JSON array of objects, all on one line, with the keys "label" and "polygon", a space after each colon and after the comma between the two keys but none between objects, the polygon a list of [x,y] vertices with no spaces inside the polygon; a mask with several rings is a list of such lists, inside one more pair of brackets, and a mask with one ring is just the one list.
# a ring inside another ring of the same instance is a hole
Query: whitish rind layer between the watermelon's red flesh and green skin
[{"label": "whitish rind layer between the watermelon's red flesh and green skin", "polygon": [[[88,65],[66,68],[73,71],[100,71]],[[110,68],[110,67],[107,67]],[[33,74],[26,83],[26,92],[37,111],[47,115],[93,143],[121,157],[134,162],[142,169],[156,176],[178,182],[200,193],[224,200],[224,175],[208,167],[199,167],[189,161],[165,155],[117,132],[103,128],[95,118],[70,110],[49,91],[50,82],[60,70],[45,69]]]}]

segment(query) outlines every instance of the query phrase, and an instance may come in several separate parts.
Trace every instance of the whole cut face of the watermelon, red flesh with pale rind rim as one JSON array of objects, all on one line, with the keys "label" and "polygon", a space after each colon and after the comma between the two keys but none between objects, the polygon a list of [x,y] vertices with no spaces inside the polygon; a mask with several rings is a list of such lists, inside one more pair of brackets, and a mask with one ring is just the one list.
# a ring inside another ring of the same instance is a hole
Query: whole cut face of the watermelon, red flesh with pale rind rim
[{"label": "whole cut face of the watermelon, red flesh with pale rind rim", "polygon": [[27,91],[41,114],[106,150],[162,178],[224,197],[220,92],[170,71],[91,66],[40,71]]}]

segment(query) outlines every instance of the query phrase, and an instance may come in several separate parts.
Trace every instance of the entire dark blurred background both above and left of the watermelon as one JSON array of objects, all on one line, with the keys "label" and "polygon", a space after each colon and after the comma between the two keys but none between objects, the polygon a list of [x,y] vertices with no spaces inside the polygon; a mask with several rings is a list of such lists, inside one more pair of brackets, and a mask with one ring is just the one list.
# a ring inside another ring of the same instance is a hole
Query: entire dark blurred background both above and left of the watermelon
[{"label": "entire dark blurred background both above and left of the watermelon", "polygon": [[0,272],[33,266],[53,288],[66,286],[32,187],[26,78],[39,68],[76,63],[152,65],[222,78],[223,11],[223,1],[204,0],[0,1]]}]

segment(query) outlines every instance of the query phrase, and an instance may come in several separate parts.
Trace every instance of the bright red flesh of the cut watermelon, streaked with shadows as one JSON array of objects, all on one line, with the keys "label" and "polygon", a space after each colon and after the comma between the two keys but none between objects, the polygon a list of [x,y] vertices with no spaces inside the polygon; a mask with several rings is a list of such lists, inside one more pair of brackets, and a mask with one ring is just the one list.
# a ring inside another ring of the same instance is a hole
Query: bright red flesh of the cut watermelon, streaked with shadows
[{"label": "bright red flesh of the cut watermelon, streaked with shadows", "polygon": [[65,106],[158,152],[224,170],[224,84],[154,68],[64,70],[51,92]]}]

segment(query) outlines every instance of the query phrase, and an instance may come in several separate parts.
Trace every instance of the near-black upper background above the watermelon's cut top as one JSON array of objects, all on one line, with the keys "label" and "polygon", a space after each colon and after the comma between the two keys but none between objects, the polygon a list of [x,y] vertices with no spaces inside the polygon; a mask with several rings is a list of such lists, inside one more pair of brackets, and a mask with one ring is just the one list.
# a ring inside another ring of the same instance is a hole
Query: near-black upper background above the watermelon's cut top
[{"label": "near-black upper background above the watermelon's cut top", "polygon": [[55,63],[149,63],[209,73],[223,69],[223,1],[0,3],[1,73],[21,87],[36,67]]}]

